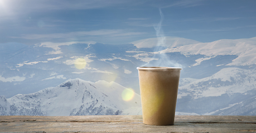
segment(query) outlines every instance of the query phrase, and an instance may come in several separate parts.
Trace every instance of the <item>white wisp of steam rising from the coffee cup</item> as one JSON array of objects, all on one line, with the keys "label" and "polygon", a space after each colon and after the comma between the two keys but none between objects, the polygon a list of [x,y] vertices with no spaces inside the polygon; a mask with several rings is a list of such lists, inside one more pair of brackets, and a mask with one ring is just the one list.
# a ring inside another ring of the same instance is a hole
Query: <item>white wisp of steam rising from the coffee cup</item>
[{"label": "white wisp of steam rising from the coffee cup", "polygon": [[151,60],[151,62],[148,62],[147,64],[144,64],[143,66],[168,66],[168,67],[177,67],[182,68],[182,65],[177,63],[175,60],[172,60],[168,57],[166,53],[162,53],[161,50],[166,49],[166,37],[163,33],[162,29],[162,22],[163,22],[163,13],[161,9],[160,11],[160,22],[154,26],[154,29],[156,30],[157,35],[157,47],[154,49],[154,52],[152,52],[153,59],[157,58],[158,60]]}]

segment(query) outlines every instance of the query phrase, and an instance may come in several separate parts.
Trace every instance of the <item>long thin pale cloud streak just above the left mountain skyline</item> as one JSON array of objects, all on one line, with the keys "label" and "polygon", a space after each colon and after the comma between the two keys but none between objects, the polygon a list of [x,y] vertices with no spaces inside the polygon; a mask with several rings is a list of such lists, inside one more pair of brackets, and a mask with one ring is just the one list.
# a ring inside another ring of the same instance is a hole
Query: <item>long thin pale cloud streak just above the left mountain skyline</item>
[{"label": "long thin pale cloud streak just above the left mountain skyline", "polygon": [[21,37],[10,38],[22,38],[22,39],[58,39],[58,38],[77,38],[77,37],[121,37],[131,35],[142,35],[144,32],[133,32],[131,30],[124,29],[100,29],[91,31],[79,31],[69,33],[51,33],[51,34],[22,34]]}]

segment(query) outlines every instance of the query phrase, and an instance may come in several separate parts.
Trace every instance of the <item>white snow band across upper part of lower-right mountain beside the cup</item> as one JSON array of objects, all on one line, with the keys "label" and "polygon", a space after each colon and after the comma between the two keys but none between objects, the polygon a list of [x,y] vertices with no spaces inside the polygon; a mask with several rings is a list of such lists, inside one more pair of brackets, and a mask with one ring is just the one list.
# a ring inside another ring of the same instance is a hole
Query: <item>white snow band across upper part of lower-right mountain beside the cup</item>
[{"label": "white snow band across upper part of lower-right mountain beside the cup", "polygon": [[[186,81],[186,79],[182,79]],[[182,82],[182,83],[183,83]],[[178,98],[193,95],[194,99],[221,94],[244,93],[256,88],[256,70],[224,68],[207,78],[191,80],[181,84]]]}]

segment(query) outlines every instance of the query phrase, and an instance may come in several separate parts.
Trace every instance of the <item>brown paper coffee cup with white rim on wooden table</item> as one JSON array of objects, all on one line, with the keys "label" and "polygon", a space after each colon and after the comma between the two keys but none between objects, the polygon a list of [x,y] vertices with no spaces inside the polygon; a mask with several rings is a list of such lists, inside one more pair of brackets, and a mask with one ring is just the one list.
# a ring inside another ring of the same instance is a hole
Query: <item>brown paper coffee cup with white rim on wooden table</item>
[{"label": "brown paper coffee cup with white rim on wooden table", "polygon": [[182,68],[138,67],[143,123],[173,125]]}]

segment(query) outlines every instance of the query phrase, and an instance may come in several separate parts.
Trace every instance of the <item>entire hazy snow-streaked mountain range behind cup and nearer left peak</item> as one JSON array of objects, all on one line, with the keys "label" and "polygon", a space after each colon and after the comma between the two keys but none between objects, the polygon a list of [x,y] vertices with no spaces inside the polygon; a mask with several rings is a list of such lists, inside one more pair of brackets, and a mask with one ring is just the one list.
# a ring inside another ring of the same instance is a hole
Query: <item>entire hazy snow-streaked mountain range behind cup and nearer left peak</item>
[{"label": "entire hazy snow-streaked mountain range behind cup and nearer left peak", "polygon": [[[95,84],[99,80],[114,81],[139,94],[137,66],[176,66],[182,67],[177,112],[256,115],[253,106],[256,38],[201,43],[165,37],[165,43],[157,45],[158,39],[120,45],[0,44],[0,95],[5,97],[1,99],[35,93],[76,78]],[[250,111],[238,111],[239,106]],[[140,109],[123,109],[123,112],[138,113],[135,110]]]}]

